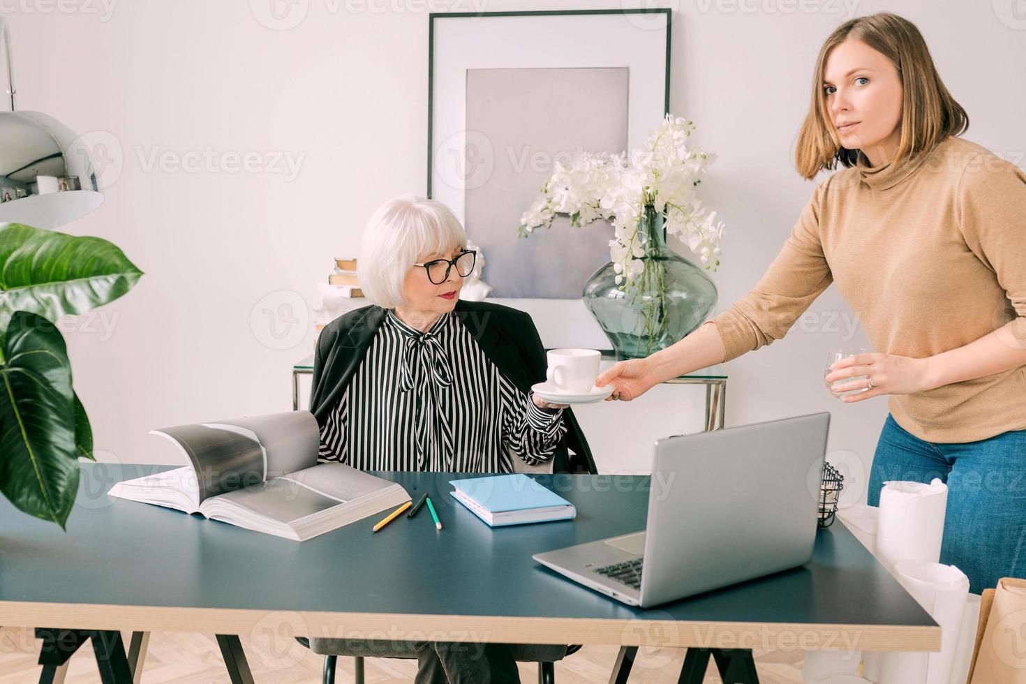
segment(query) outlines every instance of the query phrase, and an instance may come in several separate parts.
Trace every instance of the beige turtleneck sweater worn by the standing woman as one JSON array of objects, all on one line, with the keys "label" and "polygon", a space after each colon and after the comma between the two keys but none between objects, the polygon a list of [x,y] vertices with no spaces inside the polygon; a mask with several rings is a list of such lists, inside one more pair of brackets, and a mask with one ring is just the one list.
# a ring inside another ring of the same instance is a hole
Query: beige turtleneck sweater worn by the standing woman
[{"label": "beige turtleneck sweater worn by the standing woman", "polygon": [[[915,163],[834,173],[755,289],[713,319],[726,360],[783,337],[831,282],[875,352],[925,358],[1001,326],[1026,349],[1026,174],[959,137]],[[1026,429],[1026,366],[889,407],[930,442]]]}]

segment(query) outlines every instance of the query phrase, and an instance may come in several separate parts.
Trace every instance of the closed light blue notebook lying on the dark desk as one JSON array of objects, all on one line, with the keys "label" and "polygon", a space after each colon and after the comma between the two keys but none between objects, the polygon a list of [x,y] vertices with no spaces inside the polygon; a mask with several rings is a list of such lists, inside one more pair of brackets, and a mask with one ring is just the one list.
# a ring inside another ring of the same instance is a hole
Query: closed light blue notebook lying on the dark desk
[{"label": "closed light blue notebook lying on the dark desk", "polygon": [[449,493],[491,527],[568,520],[577,509],[522,473],[450,480]]}]

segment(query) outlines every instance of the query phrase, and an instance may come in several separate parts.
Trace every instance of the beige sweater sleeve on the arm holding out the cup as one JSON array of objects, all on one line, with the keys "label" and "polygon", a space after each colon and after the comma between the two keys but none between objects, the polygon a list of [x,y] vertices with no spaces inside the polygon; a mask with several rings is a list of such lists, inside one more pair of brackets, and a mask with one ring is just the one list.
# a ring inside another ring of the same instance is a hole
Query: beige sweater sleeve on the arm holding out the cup
[{"label": "beige sweater sleeve on the arm holding out the cup", "polygon": [[783,337],[833,282],[819,231],[823,194],[833,177],[813,192],[783,249],[755,289],[713,319],[726,351],[724,361]]}]

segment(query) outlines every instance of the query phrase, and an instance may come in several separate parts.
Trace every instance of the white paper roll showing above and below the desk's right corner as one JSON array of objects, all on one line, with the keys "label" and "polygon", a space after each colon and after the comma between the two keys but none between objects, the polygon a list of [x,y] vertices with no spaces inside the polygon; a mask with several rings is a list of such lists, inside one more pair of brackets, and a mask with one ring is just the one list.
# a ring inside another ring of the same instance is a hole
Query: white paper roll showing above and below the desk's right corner
[{"label": "white paper roll showing above and below the desk's right corner", "polygon": [[[969,598],[969,577],[953,565],[923,561],[899,561],[895,565],[895,573],[902,587],[941,626],[941,650],[928,654],[925,684],[950,684],[962,613]],[[890,672],[892,656],[902,655],[894,653],[884,658],[884,676]],[[921,661],[921,654],[913,655],[917,662]]]}]

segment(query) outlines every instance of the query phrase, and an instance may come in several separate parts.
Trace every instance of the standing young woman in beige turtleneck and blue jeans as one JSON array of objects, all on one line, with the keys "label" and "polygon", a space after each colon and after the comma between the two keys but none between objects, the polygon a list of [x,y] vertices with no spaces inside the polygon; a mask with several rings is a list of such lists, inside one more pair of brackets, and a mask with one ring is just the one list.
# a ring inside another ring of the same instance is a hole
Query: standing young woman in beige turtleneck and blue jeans
[{"label": "standing young woman in beige turtleneck and blue jeans", "polygon": [[783,337],[831,282],[873,348],[834,364],[845,403],[890,395],[869,479],[949,487],[941,562],[971,591],[1026,572],[1026,174],[969,127],[914,25],[851,19],[820,50],[798,172],[819,184],[749,294],[598,378],[631,400]]}]

